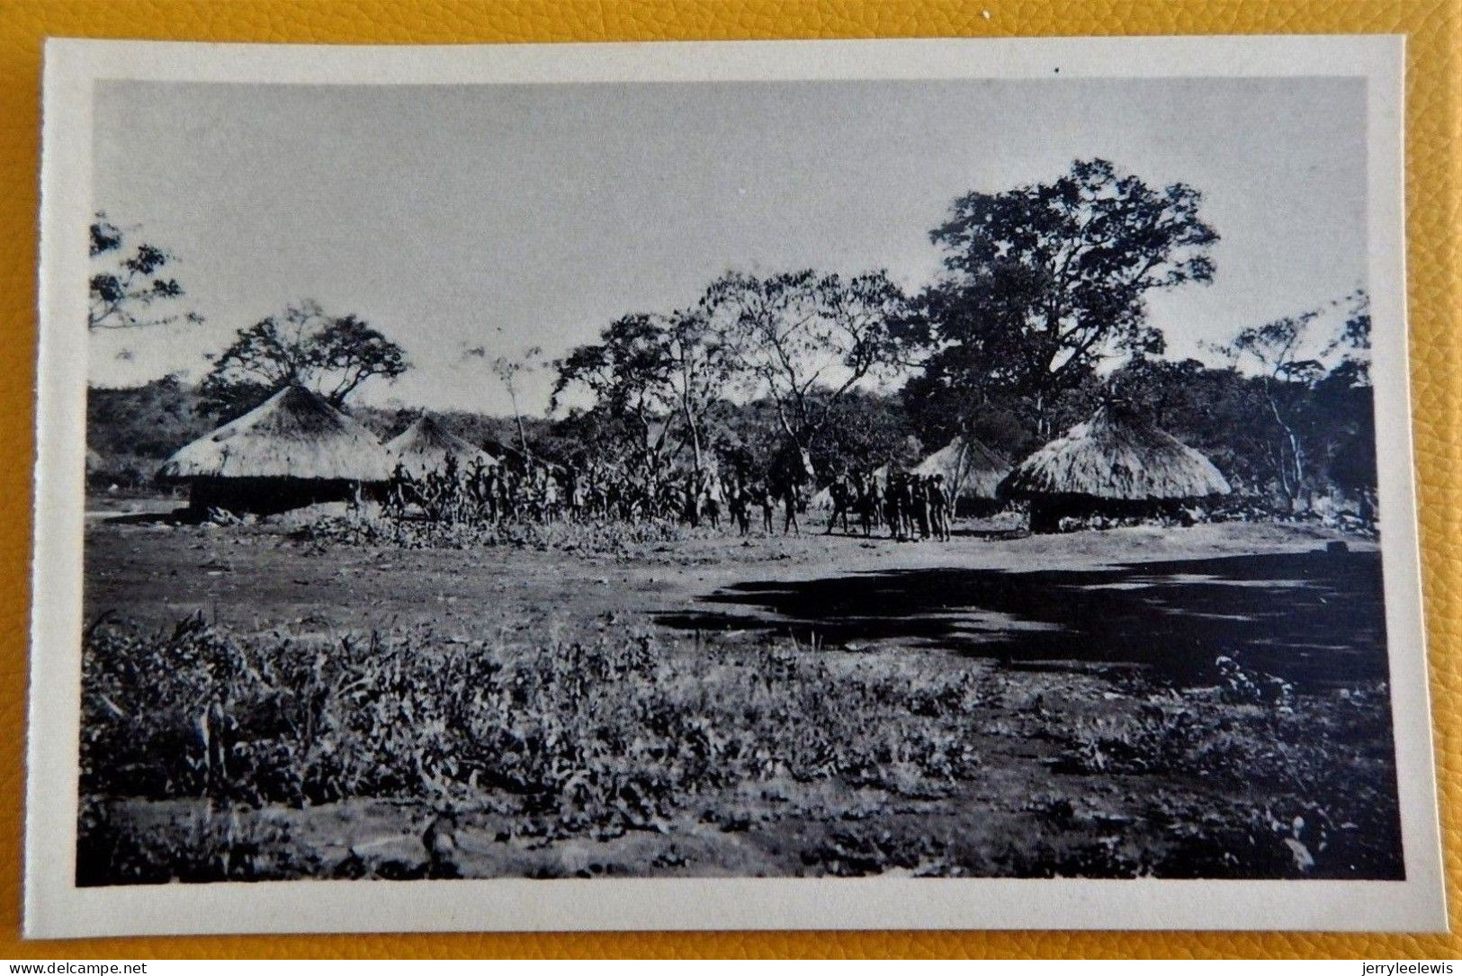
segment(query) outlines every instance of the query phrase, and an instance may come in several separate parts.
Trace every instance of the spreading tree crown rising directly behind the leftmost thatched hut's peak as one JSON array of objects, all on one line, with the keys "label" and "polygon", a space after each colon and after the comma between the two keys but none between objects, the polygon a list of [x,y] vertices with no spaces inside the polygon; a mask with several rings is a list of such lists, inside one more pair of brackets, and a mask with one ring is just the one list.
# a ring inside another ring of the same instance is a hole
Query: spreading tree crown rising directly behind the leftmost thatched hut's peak
[{"label": "spreading tree crown rising directly behind the leftmost thatched hut's peak", "polygon": [[342,406],[366,381],[408,367],[402,348],[357,316],[304,301],[240,329],[199,389],[215,413],[249,409],[291,383]]}]

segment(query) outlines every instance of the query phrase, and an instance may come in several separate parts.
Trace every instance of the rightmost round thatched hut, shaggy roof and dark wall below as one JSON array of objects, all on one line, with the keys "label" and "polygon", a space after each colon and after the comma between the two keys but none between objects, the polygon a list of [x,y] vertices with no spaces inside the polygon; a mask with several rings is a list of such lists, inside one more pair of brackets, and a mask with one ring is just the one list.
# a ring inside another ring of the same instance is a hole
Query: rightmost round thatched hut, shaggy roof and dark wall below
[{"label": "rightmost round thatched hut, shaggy roof and dark wall below", "polygon": [[1104,406],[1020,462],[1000,491],[1029,500],[1032,532],[1054,532],[1066,516],[1175,514],[1181,503],[1227,495],[1230,487],[1178,438]]}]

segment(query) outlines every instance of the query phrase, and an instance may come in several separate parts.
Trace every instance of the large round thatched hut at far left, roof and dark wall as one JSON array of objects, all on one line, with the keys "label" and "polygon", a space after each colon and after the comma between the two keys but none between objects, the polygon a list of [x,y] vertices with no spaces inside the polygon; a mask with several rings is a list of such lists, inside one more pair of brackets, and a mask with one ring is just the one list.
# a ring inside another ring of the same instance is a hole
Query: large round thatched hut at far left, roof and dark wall
[{"label": "large round thatched hut at far left, roof and dark wall", "polygon": [[164,462],[158,479],[187,482],[199,511],[273,513],[358,497],[390,478],[392,456],[358,421],[287,386]]}]

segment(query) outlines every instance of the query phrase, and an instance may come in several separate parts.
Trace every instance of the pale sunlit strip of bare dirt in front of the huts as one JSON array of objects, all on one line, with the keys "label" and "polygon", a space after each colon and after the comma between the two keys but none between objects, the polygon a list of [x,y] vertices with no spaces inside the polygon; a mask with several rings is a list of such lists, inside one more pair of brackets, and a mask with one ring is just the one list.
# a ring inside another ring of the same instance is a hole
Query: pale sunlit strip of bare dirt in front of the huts
[{"label": "pale sunlit strip of bare dirt in front of the huts", "polygon": [[[499,625],[573,625],[605,612],[646,619],[703,606],[743,583],[788,583],[908,570],[1098,570],[1231,555],[1311,552],[1367,541],[1310,526],[1203,525],[1007,538],[975,523],[949,544],[887,538],[708,535],[630,554],[572,555],[513,548],[386,549],[317,546],[273,526],[129,523],[171,504],[135,503],[94,513],[86,530],[86,612],[123,612],[148,624],[202,611],[234,628],[373,628],[433,622],[481,631]],[[149,511],[149,508],[152,511]],[[140,510],[140,511],[139,511]]]}]

